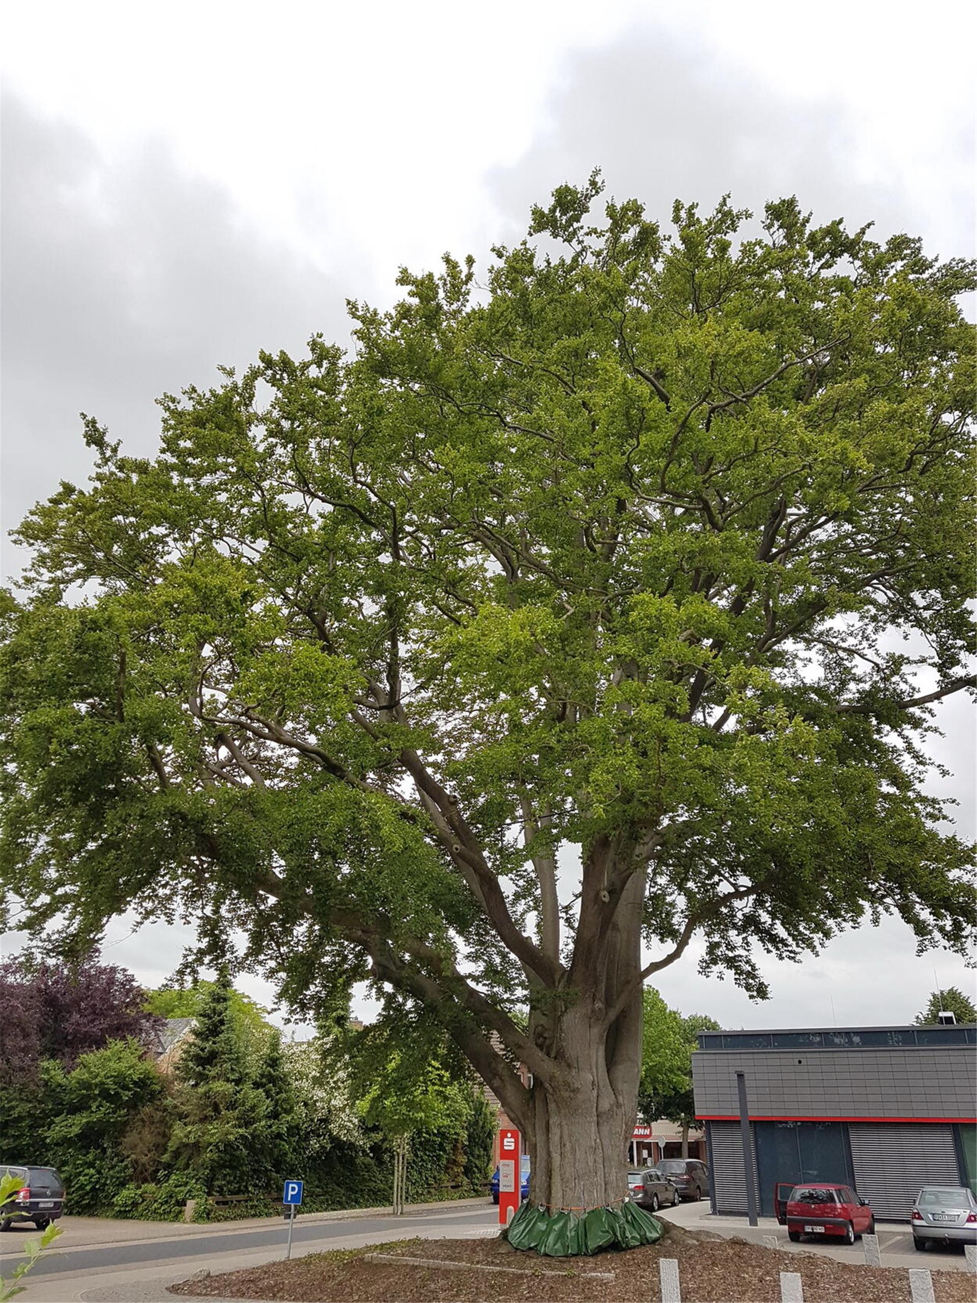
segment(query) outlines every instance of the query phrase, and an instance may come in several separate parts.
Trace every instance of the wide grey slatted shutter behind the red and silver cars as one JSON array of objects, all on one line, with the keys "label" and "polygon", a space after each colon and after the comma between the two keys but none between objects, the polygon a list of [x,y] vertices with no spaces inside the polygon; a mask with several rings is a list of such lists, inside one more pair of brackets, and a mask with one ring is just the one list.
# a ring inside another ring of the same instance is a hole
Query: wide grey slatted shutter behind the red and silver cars
[{"label": "wide grey slatted shutter behind the red and silver cars", "polygon": [[920,1186],[959,1186],[954,1128],[933,1123],[848,1126],[855,1184],[877,1217],[909,1221]]}]

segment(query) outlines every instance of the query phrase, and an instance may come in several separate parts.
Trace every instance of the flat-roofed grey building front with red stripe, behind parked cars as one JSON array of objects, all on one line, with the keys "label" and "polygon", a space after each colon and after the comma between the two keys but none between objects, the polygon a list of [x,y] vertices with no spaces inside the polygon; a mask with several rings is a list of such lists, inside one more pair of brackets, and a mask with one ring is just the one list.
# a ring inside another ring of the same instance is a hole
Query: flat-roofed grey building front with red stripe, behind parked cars
[{"label": "flat-roofed grey building front with red stripe, behind parked cars", "polygon": [[852,1184],[892,1221],[922,1184],[977,1191],[977,1027],[703,1032],[692,1072],[714,1212],[745,1212],[748,1179],[767,1216],[779,1181]]}]

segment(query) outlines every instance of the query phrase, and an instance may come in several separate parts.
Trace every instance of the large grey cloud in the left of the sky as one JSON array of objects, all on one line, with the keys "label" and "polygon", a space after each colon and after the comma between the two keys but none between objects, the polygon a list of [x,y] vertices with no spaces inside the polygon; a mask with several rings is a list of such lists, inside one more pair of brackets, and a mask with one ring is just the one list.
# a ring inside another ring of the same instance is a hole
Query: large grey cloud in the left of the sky
[{"label": "large grey cloud in the left of the sky", "polygon": [[3,159],[5,532],[87,473],[78,412],[149,452],[160,394],[210,384],[259,348],[301,349],[313,331],[345,337],[335,281],[248,229],[164,145],[107,159],[5,96]]}]

